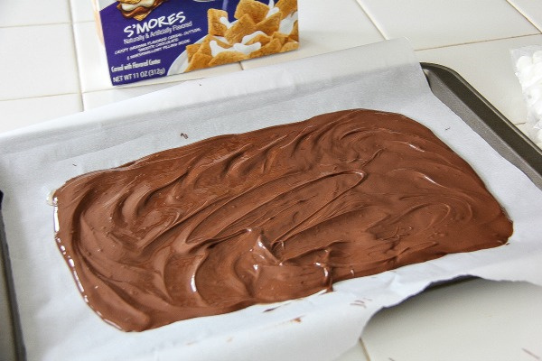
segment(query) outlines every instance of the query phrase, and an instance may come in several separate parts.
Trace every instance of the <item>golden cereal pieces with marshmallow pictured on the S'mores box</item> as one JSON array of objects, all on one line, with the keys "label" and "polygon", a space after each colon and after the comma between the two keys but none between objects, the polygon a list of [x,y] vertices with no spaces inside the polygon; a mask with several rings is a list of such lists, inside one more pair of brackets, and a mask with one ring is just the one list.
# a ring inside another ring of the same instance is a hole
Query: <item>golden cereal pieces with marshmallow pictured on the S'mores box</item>
[{"label": "golden cereal pieces with marshmallow pictured on the S'mores box", "polygon": [[[276,4],[273,0],[268,4],[240,0],[233,17],[230,22],[227,12],[209,9],[208,34],[186,47],[186,63],[181,72],[294,51],[299,47],[296,0],[279,0]],[[209,46],[201,46],[206,42]]]}]

